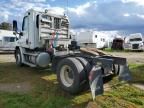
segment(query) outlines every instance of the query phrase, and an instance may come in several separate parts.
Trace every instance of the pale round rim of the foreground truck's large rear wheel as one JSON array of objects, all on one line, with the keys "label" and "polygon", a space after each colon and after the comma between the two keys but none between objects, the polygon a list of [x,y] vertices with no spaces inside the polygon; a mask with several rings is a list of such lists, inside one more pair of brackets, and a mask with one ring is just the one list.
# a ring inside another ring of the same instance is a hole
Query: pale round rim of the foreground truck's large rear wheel
[{"label": "pale round rim of the foreground truck's large rear wheel", "polygon": [[73,82],[74,82],[74,77],[73,77],[73,70],[71,69],[70,66],[68,65],[64,65],[61,70],[60,70],[60,78],[62,83],[67,86],[70,87]]}]

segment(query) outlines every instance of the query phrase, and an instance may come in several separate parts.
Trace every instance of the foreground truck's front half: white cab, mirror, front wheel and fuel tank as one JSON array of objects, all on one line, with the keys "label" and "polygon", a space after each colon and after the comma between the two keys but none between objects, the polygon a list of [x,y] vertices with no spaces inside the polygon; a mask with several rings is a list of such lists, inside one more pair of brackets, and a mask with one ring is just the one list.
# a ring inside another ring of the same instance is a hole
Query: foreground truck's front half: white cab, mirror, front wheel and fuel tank
[{"label": "foreground truck's front half: white cab, mirror, front wheel and fuel tank", "polygon": [[[17,32],[16,21],[13,21],[13,29]],[[30,9],[23,17],[22,31],[18,34],[15,48],[17,64],[45,67],[50,62],[50,54],[55,52],[53,50],[65,49],[70,43],[69,20],[66,15],[57,15],[49,10]]]}]

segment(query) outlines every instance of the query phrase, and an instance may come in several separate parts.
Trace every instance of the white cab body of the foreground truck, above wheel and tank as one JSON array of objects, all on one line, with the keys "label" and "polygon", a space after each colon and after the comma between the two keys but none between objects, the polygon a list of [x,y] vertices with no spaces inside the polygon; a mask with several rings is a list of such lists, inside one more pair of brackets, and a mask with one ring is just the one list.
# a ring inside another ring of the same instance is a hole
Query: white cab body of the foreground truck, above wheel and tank
[{"label": "white cab body of the foreground truck, above wheel and tank", "polygon": [[68,38],[69,21],[63,15],[55,15],[46,12],[38,12],[33,9],[25,13],[22,23],[22,32],[18,45],[29,48],[42,48],[46,40],[53,40],[53,34],[58,33],[58,40]]}]

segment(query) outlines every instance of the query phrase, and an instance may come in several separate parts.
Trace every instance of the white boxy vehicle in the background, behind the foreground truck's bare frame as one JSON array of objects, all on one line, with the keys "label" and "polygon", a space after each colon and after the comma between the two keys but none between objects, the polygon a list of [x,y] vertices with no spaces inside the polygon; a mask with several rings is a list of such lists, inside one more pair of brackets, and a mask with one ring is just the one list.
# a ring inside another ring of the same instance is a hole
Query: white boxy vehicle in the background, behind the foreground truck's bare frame
[{"label": "white boxy vehicle in the background, behind the foreground truck's bare frame", "polygon": [[106,35],[98,31],[79,32],[75,40],[81,47],[104,49],[106,47]]}]

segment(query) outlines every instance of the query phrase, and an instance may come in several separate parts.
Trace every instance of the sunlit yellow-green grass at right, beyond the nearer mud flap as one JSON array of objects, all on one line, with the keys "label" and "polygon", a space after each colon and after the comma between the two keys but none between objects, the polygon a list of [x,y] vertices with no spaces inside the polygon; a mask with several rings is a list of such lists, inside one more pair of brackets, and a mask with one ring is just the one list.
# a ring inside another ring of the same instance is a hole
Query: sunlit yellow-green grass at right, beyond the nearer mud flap
[{"label": "sunlit yellow-green grass at right, beyond the nearer mud flap", "polygon": [[130,85],[120,83],[114,78],[109,82],[111,91],[97,96],[94,103],[100,108],[144,108],[144,91],[131,85],[131,83],[144,84],[144,64],[130,64],[129,68],[133,77]]}]

